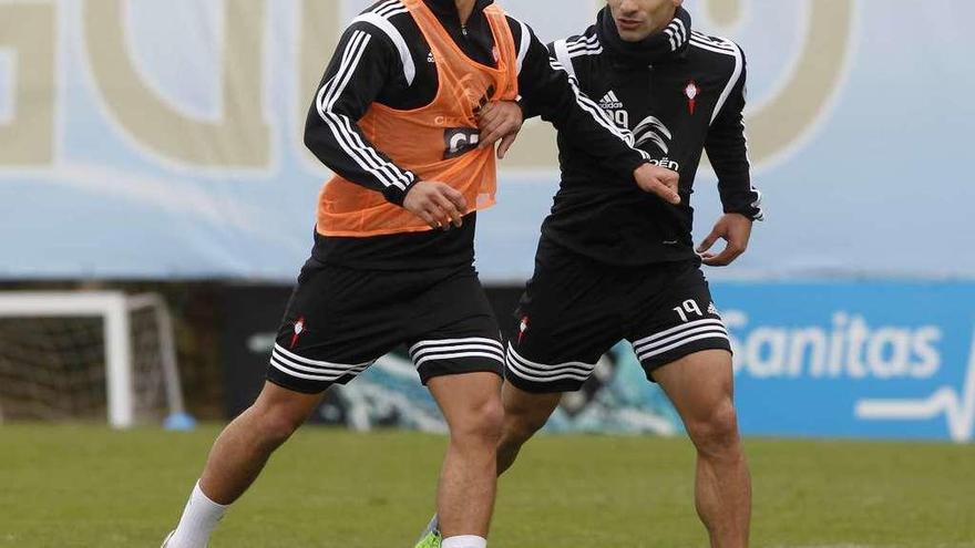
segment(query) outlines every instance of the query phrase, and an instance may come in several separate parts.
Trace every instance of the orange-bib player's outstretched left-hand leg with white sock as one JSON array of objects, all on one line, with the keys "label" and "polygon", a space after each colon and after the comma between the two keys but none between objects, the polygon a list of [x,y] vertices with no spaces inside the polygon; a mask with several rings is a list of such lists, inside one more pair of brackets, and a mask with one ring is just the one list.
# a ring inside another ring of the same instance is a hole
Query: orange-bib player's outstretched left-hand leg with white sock
[{"label": "orange-bib player's outstretched left-hand leg with white sock", "polygon": [[225,507],[250,487],[271,453],[311,415],[321,397],[266,382],[257,401],[217,437],[179,525],[163,546],[205,547]]}]

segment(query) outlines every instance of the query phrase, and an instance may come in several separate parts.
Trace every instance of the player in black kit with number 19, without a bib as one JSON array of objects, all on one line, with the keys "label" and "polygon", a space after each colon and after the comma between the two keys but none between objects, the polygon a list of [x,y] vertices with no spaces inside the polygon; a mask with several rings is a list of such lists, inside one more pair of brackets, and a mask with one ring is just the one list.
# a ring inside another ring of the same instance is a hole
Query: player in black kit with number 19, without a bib
[{"label": "player in black kit with number 19, without a bib", "polygon": [[[499,473],[562,393],[579,390],[599,358],[627,339],[697,447],[696,503],[711,546],[745,547],[751,495],[730,345],[700,270],[701,261],[735,260],[762,216],[742,125],[745,56],[735,43],[694,31],[681,0],[609,0],[595,25],[550,50],[655,163],[680,174],[681,201],[636,192],[560,135],[562,185],[507,347]],[[690,195],[702,151],[725,215],[698,256]],[[708,252],[719,238],[726,248]]]}]

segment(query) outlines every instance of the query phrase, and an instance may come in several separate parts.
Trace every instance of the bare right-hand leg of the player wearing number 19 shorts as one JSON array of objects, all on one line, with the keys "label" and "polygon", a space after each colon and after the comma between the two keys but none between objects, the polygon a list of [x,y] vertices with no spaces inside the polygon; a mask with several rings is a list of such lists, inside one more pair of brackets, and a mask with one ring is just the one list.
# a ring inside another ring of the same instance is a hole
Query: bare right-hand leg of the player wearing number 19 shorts
[{"label": "bare right-hand leg of the player wearing number 19 shorts", "polygon": [[751,478],[732,401],[731,354],[706,350],[654,372],[697,447],[695,503],[714,548],[748,546]]}]

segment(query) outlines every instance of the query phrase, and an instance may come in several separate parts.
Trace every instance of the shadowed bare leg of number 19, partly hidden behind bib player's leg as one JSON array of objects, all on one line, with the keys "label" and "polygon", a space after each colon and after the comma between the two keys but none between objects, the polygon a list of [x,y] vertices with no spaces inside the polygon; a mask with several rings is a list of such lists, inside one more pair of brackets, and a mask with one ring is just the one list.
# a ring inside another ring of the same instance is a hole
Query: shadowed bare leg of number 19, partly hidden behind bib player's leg
[{"label": "shadowed bare leg of number 19, partly hidden behind bib player's leg", "polygon": [[562,393],[533,394],[504,383],[501,400],[504,403],[504,425],[497,443],[499,476],[514,464],[522,445],[545,425],[558,406]]}]

